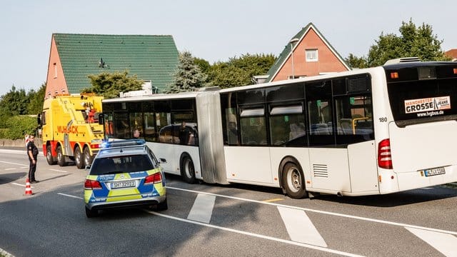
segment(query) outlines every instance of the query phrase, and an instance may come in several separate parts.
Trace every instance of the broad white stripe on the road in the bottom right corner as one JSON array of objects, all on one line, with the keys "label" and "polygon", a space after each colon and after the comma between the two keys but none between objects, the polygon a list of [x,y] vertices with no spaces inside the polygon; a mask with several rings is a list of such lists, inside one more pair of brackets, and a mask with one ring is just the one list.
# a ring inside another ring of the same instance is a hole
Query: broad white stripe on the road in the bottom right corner
[{"label": "broad white stripe on the road in the bottom right corner", "polygon": [[443,253],[444,256],[457,256],[457,237],[448,233],[439,233],[418,228],[406,229],[418,238],[431,245],[433,248]]}]

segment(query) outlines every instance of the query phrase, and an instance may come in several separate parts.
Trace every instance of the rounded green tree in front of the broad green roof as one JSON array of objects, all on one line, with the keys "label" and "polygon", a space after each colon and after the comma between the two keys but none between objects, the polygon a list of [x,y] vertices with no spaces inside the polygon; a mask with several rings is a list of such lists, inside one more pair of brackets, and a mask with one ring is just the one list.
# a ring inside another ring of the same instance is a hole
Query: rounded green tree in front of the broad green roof
[{"label": "rounded green tree in front of the broad green roof", "polygon": [[92,86],[83,89],[83,93],[94,93],[104,96],[105,99],[119,97],[120,92],[141,90],[144,81],[138,79],[136,75],[128,76],[129,71],[114,73],[104,72],[98,75],[91,74],[89,79]]}]

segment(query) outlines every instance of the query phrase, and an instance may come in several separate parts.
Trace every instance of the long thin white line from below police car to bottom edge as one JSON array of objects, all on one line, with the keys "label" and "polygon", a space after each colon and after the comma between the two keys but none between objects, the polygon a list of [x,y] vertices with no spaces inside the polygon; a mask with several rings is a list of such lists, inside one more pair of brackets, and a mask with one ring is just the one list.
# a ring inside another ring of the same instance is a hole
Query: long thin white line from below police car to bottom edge
[{"label": "long thin white line from below police car to bottom edge", "polygon": [[[146,211],[146,210],[144,210],[144,211]],[[206,226],[208,228],[220,229],[220,230],[223,230],[223,231],[239,233],[239,234],[246,235],[246,236],[253,236],[253,237],[256,237],[256,238],[263,238],[263,239],[266,239],[266,240],[276,241],[276,242],[279,242],[279,243],[288,243],[288,244],[293,245],[293,246],[301,246],[301,247],[305,247],[305,248],[311,248],[311,249],[315,249],[315,250],[318,250],[318,251],[324,251],[324,252],[327,252],[327,253],[339,254],[341,256],[360,256],[360,255],[357,255],[357,254],[354,254],[354,253],[346,253],[346,252],[343,252],[343,251],[336,251],[336,250],[332,250],[332,249],[328,249],[328,248],[323,248],[321,246],[313,246],[313,245],[310,245],[310,244],[307,244],[307,243],[299,243],[299,242],[294,242],[294,241],[285,240],[285,239],[281,239],[281,238],[274,238],[272,236],[264,236],[264,235],[261,235],[261,234],[256,234],[256,233],[251,233],[251,232],[246,232],[246,231],[238,231],[238,230],[233,229],[233,228],[224,228],[224,227],[221,227],[221,226],[215,226],[215,225],[211,225],[211,224],[207,224],[207,223],[202,223],[202,222],[199,222],[199,221],[191,221],[191,220],[188,220],[188,219],[169,216],[169,215],[166,215],[166,214],[163,214],[163,213],[158,213],[158,212],[155,212],[155,211],[146,211],[146,212],[154,214],[156,216],[161,216],[161,217],[164,217],[164,218],[171,218],[171,219],[174,219],[176,221],[182,221],[182,222],[186,222],[186,223],[193,223],[193,224],[196,224],[196,225],[199,225],[199,226]]]}]

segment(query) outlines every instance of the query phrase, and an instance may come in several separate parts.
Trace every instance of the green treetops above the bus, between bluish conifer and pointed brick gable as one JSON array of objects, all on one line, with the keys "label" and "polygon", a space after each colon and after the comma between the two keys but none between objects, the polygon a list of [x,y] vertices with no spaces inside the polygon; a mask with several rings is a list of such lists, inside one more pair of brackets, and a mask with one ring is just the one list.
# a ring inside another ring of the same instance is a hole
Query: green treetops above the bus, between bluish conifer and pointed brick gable
[{"label": "green treetops above the bus, between bluish conifer and pointed brick gable", "polygon": [[227,62],[219,61],[209,70],[209,83],[221,88],[250,85],[252,77],[266,74],[274,61],[273,54],[244,54]]}]

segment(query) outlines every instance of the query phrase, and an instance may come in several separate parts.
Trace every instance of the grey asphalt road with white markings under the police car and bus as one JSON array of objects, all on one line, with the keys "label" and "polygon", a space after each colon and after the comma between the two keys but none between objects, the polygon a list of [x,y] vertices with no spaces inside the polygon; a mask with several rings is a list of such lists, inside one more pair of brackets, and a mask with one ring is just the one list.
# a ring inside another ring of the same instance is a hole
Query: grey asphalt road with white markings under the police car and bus
[{"label": "grey asphalt road with white markings under the police car and bus", "polygon": [[[21,150],[21,149],[19,149]],[[455,256],[457,190],[294,200],[277,188],[166,176],[167,211],[86,218],[76,166],[0,149],[0,248],[13,256]],[[1,253],[1,251],[0,251]]]}]

